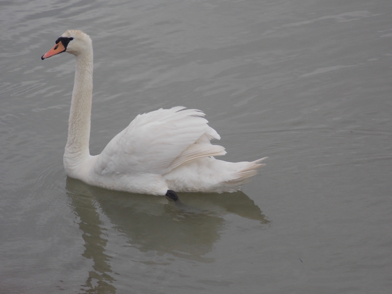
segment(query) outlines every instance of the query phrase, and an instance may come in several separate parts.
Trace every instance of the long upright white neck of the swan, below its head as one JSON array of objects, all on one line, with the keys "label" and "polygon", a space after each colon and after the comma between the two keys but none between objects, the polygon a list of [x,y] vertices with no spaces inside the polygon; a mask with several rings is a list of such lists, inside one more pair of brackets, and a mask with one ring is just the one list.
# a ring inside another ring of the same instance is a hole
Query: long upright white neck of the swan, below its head
[{"label": "long upright white neck of the swan, below its head", "polygon": [[69,168],[90,156],[90,121],[93,98],[93,49],[76,56],[75,80],[73,84],[68,141],[65,147],[64,164]]}]

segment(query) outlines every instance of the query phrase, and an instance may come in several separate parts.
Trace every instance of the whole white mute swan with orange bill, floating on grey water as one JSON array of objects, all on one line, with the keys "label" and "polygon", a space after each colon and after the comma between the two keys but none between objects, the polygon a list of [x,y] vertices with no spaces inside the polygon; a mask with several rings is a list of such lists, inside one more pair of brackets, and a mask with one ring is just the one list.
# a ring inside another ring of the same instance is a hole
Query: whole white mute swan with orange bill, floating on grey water
[{"label": "whole white mute swan with orange bill, floating on grey water", "polygon": [[177,106],[138,115],[98,155],[89,152],[93,96],[93,45],[79,30],[67,30],[41,59],[61,52],[76,57],[64,169],[87,184],[131,193],[235,192],[264,164],[226,162],[218,133],[196,109]]}]

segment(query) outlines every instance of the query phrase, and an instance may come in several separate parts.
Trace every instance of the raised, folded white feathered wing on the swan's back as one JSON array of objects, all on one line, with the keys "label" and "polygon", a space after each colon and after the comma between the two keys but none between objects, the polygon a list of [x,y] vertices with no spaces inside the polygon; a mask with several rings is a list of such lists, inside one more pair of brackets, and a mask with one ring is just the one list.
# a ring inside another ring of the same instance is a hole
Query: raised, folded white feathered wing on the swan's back
[{"label": "raised, folded white feathered wing on the swan's back", "polygon": [[182,106],[138,115],[99,154],[96,172],[164,174],[200,157],[225,154],[210,143],[220,136],[203,116]]}]

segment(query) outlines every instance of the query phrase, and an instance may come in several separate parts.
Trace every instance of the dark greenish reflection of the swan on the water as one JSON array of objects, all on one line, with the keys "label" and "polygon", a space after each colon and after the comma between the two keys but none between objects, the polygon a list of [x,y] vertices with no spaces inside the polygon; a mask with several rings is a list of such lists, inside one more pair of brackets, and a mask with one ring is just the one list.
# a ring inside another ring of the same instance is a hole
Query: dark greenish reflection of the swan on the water
[{"label": "dark greenish reflection of the swan on the water", "polygon": [[[161,196],[103,190],[72,178],[67,178],[66,189],[83,231],[85,250],[82,256],[93,261],[93,270],[89,271],[88,279],[82,285],[86,293],[116,292],[110,266],[112,256],[105,253],[107,224],[104,225],[101,214],[110,220],[111,228],[125,236],[126,244],[122,247],[137,248],[140,252],[153,252],[158,256],[170,254],[171,261],[183,258],[202,263],[214,262],[214,258],[205,255],[220,238],[225,214],[269,223],[260,208],[242,192],[183,193],[179,195],[180,201],[172,202]],[[137,262],[158,265],[152,259]]]}]

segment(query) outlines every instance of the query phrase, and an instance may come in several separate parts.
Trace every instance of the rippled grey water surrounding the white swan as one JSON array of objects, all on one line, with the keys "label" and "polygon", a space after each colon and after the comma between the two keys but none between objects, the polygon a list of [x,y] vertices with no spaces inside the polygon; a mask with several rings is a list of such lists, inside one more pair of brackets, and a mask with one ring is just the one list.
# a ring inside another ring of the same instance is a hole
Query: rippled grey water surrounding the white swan
[{"label": "rippled grey water surrounding the white swan", "polygon": [[[0,3],[0,293],[389,293],[390,1]],[[91,153],[137,114],[205,111],[243,192],[89,187],[62,154],[74,59],[95,54]]]}]

